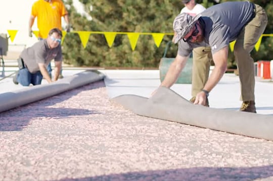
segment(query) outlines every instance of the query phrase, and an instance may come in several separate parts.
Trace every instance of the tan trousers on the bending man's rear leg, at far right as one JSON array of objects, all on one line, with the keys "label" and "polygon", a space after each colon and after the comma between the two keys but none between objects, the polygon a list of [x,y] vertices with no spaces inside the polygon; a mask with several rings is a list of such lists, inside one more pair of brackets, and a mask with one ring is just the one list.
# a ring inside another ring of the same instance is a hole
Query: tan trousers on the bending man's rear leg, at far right
[{"label": "tan trousers on the bending man's rear leg, at far right", "polygon": [[237,61],[241,84],[240,99],[242,101],[255,100],[254,61],[250,56],[250,52],[253,50],[267,24],[266,12],[259,5],[255,5],[255,7],[255,18],[241,31],[234,46],[235,60]]}]

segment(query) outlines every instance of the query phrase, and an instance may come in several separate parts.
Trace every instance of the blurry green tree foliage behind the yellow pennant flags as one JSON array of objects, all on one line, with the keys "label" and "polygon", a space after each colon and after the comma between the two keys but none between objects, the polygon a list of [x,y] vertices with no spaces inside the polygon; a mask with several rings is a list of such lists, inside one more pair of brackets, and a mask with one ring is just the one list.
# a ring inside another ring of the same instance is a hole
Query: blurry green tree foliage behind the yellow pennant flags
[{"label": "blurry green tree foliage behind the yellow pennant flags", "polygon": [[[172,33],[172,22],[179,14],[183,4],[180,0],[80,0],[85,11],[92,16],[78,14],[72,6],[72,0],[65,3],[70,6],[69,15],[73,29],[76,31],[102,32],[149,32]],[[216,4],[212,0],[198,0],[197,3],[208,8]],[[220,3],[225,2],[221,0]],[[253,0],[261,5],[268,14],[268,25],[265,33],[272,33],[273,4],[267,0]],[[93,7],[90,11],[89,7]],[[103,34],[92,34],[85,48],[81,45],[76,33],[68,33],[63,43],[65,63],[74,66],[98,67],[158,67],[165,46],[172,39],[172,35],[165,35],[160,47],[154,43],[150,35],[140,35],[134,50],[131,49],[126,35],[118,34],[112,47],[109,47]],[[271,59],[273,38],[263,38],[258,52],[252,51],[255,60]],[[177,45],[172,45],[167,51],[167,57],[175,57]],[[234,55],[230,53],[229,67],[236,66]]]}]

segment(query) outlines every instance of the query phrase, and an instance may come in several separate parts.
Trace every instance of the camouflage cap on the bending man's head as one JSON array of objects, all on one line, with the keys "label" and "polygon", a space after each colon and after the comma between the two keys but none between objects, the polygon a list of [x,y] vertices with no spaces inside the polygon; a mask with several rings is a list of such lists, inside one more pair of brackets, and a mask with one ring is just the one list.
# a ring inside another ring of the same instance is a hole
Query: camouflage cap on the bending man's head
[{"label": "camouflage cap on the bending man's head", "polygon": [[195,17],[187,13],[179,14],[173,21],[173,30],[176,32],[174,43],[177,43],[181,38],[184,38],[200,17],[201,14],[198,14]]}]

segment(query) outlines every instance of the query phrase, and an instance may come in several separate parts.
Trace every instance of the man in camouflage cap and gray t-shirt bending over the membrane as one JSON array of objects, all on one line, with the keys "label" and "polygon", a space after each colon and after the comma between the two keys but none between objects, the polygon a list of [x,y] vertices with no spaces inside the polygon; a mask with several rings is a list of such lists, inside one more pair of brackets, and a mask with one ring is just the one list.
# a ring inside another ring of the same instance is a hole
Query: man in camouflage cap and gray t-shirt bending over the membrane
[{"label": "man in camouflage cap and gray t-shirt bending over the membrane", "polygon": [[215,67],[203,90],[196,95],[194,104],[205,105],[209,92],[222,78],[228,64],[229,43],[236,40],[234,53],[241,83],[241,111],[256,112],[254,48],[267,24],[267,15],[258,5],[250,2],[226,2],[212,6],[192,17],[179,14],[173,22],[176,32],[174,43],[178,52],[161,86],[171,87],[186,65],[192,49],[210,46]]}]

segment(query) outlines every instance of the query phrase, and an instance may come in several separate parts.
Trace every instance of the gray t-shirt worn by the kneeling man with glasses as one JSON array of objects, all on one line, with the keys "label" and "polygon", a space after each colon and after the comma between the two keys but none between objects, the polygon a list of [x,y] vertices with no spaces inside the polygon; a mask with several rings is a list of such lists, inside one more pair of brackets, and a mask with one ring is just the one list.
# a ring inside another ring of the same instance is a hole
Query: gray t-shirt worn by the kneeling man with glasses
[{"label": "gray t-shirt worn by the kneeling man with glasses", "polygon": [[36,42],[31,47],[24,49],[20,55],[30,73],[38,72],[38,63],[43,63],[48,66],[52,59],[54,61],[62,61],[61,45],[50,49],[47,39]]}]

